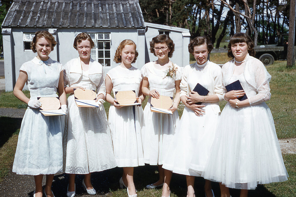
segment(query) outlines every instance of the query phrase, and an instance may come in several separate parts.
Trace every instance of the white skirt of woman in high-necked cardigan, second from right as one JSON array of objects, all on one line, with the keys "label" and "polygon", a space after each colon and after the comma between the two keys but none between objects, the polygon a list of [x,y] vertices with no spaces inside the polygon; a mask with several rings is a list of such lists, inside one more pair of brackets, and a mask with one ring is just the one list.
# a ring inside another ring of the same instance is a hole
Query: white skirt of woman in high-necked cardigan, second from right
[{"label": "white skirt of woman in high-necked cardigan, second from right", "polygon": [[219,117],[210,103],[205,105],[203,116],[197,116],[191,109],[184,108],[163,168],[173,173],[201,176],[211,154]]}]

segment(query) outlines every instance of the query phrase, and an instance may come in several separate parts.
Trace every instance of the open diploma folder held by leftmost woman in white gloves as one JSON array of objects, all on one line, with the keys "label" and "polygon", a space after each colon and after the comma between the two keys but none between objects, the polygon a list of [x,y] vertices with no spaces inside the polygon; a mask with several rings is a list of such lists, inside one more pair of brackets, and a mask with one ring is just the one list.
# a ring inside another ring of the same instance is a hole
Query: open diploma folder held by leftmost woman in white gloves
[{"label": "open diploma folder held by leftmost woman in white gloves", "polygon": [[38,97],[37,99],[42,104],[39,110],[44,116],[67,115],[61,109],[61,103],[58,97]]}]

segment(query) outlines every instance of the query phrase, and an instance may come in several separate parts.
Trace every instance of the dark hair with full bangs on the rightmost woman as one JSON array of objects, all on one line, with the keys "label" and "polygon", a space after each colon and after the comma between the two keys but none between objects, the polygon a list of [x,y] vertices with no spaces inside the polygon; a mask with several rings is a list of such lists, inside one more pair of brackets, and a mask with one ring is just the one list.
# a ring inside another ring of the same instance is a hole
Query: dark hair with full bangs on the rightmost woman
[{"label": "dark hair with full bangs on the rightmost woman", "polygon": [[245,33],[236,33],[231,37],[231,39],[228,43],[227,56],[229,58],[234,58],[234,55],[231,51],[231,45],[239,43],[239,42],[247,43],[249,55],[255,57],[254,42],[252,41],[252,39]]}]

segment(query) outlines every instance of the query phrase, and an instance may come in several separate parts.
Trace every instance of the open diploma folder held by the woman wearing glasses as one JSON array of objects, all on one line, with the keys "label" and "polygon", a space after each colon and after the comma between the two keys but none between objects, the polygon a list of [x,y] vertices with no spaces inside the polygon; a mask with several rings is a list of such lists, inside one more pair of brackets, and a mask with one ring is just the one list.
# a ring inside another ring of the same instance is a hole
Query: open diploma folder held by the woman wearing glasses
[{"label": "open diploma folder held by the woman wearing glasses", "polygon": [[150,110],[152,112],[173,114],[168,110],[173,105],[173,97],[160,95],[158,99],[151,97]]}]

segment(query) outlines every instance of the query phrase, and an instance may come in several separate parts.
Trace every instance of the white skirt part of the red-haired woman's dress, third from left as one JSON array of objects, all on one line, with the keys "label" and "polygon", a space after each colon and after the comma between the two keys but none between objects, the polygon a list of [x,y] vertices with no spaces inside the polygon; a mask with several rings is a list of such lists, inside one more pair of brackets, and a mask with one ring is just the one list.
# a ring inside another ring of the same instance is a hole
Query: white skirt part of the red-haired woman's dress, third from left
[{"label": "white skirt part of the red-haired woman's dress, third from left", "polygon": [[111,105],[108,122],[117,166],[145,165],[142,145],[143,108],[141,106],[124,106],[117,109]]}]

